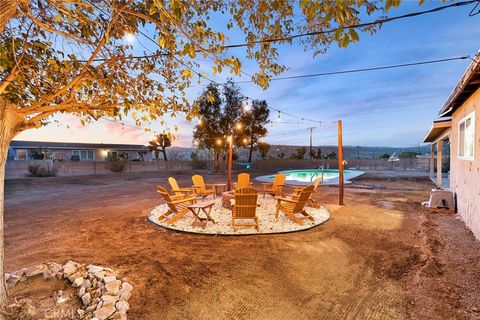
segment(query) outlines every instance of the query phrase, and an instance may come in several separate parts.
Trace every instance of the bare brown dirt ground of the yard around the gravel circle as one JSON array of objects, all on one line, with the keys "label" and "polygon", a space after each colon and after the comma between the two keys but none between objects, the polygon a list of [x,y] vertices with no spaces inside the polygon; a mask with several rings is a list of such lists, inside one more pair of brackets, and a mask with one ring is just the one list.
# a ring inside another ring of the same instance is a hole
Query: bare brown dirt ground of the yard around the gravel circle
[{"label": "bare brown dirt ground of the yard around the gravel circle", "polygon": [[134,285],[131,319],[480,319],[480,242],[458,216],[421,207],[433,187],[425,178],[366,174],[345,206],[321,187],[325,224],[242,237],[149,223],[166,178],[7,181],[6,269],[112,267]]}]

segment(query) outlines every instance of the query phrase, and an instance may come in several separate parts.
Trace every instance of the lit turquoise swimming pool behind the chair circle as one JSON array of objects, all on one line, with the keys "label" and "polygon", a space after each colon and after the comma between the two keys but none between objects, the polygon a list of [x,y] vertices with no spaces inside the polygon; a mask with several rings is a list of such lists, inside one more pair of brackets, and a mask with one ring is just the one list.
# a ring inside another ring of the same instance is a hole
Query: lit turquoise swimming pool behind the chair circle
[{"label": "lit turquoise swimming pool behind the chair circle", "polygon": [[[322,184],[338,184],[338,170],[335,169],[325,169],[325,170],[318,170],[318,169],[304,169],[304,170],[285,170],[280,171],[279,173],[283,173],[286,177],[286,183],[291,185],[309,185],[315,179],[323,176],[323,183]],[[357,170],[344,170],[343,176],[345,183],[350,183],[350,179],[356,178],[364,174],[363,171]],[[275,175],[268,175],[268,176],[260,176],[255,178],[255,180],[262,181],[262,182],[272,182],[273,177]]]}]

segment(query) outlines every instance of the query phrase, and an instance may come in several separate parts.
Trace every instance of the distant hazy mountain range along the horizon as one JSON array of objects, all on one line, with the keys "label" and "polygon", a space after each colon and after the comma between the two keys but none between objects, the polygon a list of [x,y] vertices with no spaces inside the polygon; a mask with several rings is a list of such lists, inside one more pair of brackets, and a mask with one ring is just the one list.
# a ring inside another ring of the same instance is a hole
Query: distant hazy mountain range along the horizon
[{"label": "distant hazy mountain range along the horizon", "polygon": [[[302,146],[287,146],[287,145],[272,145],[270,148],[270,152],[268,153],[269,157],[278,158],[279,154],[285,154],[285,159],[287,159],[290,154],[295,153],[297,148]],[[306,146],[307,153],[305,155],[305,159],[308,159],[308,149],[309,147]],[[315,153],[318,152],[318,149],[321,150],[323,155],[329,154],[331,152],[338,153],[337,146],[313,146],[313,151]],[[181,147],[171,147],[168,148],[168,155],[170,159],[179,159],[179,160],[190,160],[190,156],[192,154],[192,148],[181,148]],[[372,158],[379,158],[383,154],[392,155],[396,153],[398,155],[404,151],[412,151],[417,153],[429,153],[430,147],[429,146],[419,146],[419,147],[365,147],[365,146],[344,146],[343,147],[343,157],[346,160],[352,159],[372,159]],[[247,149],[236,149],[235,153],[239,156],[239,160],[246,161],[248,158],[248,150]],[[253,153],[253,159],[260,158],[258,152]]]}]

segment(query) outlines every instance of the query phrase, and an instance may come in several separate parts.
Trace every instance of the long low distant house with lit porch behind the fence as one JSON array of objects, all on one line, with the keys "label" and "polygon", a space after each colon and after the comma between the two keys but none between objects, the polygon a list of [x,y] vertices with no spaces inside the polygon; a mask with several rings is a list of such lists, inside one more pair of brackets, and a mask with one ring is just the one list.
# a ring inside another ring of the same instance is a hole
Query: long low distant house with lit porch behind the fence
[{"label": "long low distant house with lit porch behind the fence", "polygon": [[[145,146],[136,144],[12,141],[8,151],[8,160],[102,161],[107,157],[117,158],[120,156],[134,160],[141,159],[139,152],[142,150],[145,150]],[[147,152],[144,160],[152,160],[152,153]]]}]

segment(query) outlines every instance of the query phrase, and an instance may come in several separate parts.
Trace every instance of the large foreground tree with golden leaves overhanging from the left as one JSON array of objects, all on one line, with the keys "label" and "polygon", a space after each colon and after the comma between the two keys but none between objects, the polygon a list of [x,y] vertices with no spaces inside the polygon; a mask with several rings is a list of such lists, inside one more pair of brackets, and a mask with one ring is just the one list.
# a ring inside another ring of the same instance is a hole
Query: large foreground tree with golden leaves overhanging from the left
[{"label": "large foreground tree with golden leaves overhanging from the left", "polygon": [[[3,270],[3,180],[10,141],[20,132],[45,125],[52,115],[69,113],[82,123],[130,115],[137,123],[181,114],[193,119],[197,108],[185,97],[195,75],[195,57],[210,59],[212,73],[238,75],[241,62],[228,55],[225,34],[208,25],[228,15],[220,30],[234,26],[245,35],[247,59],[258,71],[252,80],[268,87],[278,63],[275,39],[315,31],[301,43],[313,54],[337,43],[359,40],[348,28],[365,13],[385,12],[400,1],[107,1],[13,0],[0,2],[0,282]],[[299,19],[301,15],[301,19]],[[318,31],[337,28],[335,32]],[[361,32],[375,32],[377,25]],[[134,56],[125,35],[158,49]],[[292,43],[292,40],[280,43]],[[161,120],[163,122],[164,120]],[[6,301],[0,285],[0,306]],[[0,315],[0,318],[3,316]]]}]

